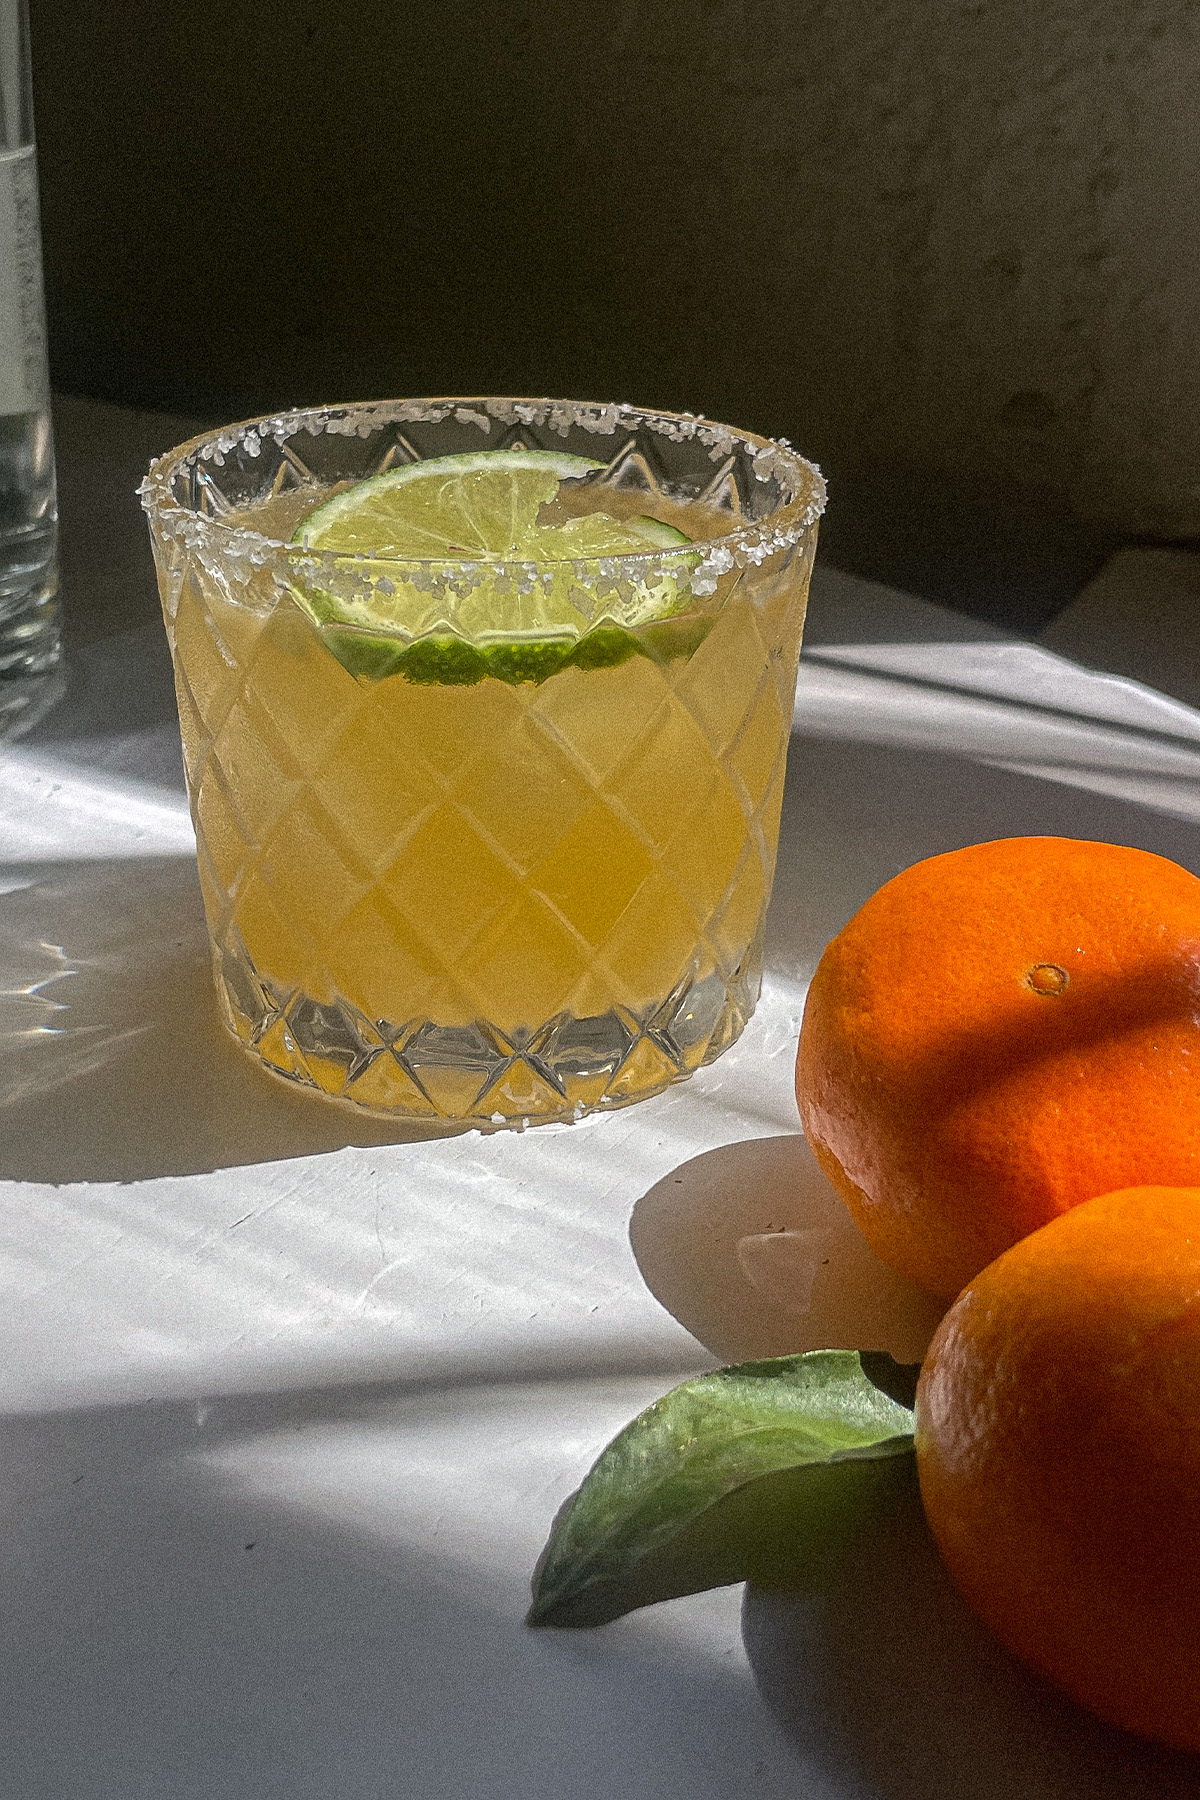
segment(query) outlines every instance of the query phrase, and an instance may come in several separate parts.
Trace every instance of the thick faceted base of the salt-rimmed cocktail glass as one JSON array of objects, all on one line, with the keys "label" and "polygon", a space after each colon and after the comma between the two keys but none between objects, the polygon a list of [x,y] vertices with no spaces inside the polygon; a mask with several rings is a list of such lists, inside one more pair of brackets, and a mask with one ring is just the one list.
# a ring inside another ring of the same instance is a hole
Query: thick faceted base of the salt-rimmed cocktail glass
[{"label": "thick faceted base of the salt-rimmed cocktail glass", "polygon": [[486,1021],[371,1022],[263,977],[245,952],[216,956],[227,1028],[272,1075],[329,1100],[426,1125],[533,1125],[648,1100],[734,1044],[757,1003],[757,940],[730,977],[687,972],[644,1017],[624,1006],[536,1030]]}]

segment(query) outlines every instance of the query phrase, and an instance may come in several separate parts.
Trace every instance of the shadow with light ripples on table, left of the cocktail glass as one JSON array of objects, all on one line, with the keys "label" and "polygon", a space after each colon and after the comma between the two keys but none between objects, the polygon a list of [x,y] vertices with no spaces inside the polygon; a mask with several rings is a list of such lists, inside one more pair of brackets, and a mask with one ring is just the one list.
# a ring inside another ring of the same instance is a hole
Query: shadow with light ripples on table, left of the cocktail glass
[{"label": "shadow with light ripples on table, left of the cocktail glass", "polygon": [[65,862],[0,896],[0,1177],[142,1181],[446,1136],[358,1118],[221,1028],[191,857]]}]

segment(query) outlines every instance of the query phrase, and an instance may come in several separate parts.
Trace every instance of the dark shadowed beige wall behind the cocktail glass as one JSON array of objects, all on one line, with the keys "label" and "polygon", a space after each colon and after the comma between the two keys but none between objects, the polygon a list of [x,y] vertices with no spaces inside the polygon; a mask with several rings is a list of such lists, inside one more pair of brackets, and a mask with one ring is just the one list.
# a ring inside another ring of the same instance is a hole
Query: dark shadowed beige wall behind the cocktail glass
[{"label": "dark shadowed beige wall behind the cocktail glass", "polygon": [[74,389],[633,398],[1200,533],[1189,0],[32,13]]}]

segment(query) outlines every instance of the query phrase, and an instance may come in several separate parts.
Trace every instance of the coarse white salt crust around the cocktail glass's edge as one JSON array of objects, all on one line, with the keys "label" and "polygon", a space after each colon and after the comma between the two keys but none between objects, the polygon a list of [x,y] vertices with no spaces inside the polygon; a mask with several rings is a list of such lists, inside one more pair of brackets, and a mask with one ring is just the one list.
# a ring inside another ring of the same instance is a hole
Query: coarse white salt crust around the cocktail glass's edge
[{"label": "coarse white salt crust around the cocktail glass's edge", "polygon": [[[493,423],[549,427],[561,437],[572,427],[594,436],[612,436],[619,428],[642,425],[655,436],[666,437],[667,443],[698,439],[707,446],[712,463],[720,463],[741,448],[750,454],[756,479],[777,481],[784,500],[766,520],[741,526],[720,538],[702,538],[685,549],[624,551],[601,558],[565,556],[547,563],[450,558],[383,560],[371,554],[313,551],[250,531],[246,526],[227,526],[219,515],[180,506],[171,491],[171,482],[182,464],[203,461],[221,468],[225,457],[239,445],[246,455],[257,457],[266,441],[282,448],[290,437],[300,432],[308,432],[309,437],[322,434],[371,437],[385,425],[439,425],[452,414],[459,425],[477,425],[480,430],[489,430]],[[639,580],[639,576],[644,580],[649,571],[669,571],[676,580],[685,581],[693,594],[703,598],[716,590],[720,578],[730,569],[761,567],[768,556],[792,549],[811,531],[826,506],[826,482],[820,470],[793,450],[786,437],[757,437],[754,432],[734,430],[694,412],[649,412],[624,403],[495,398],[378,400],[336,407],[304,407],[295,412],[245,419],[219,432],[203,432],[200,437],[167,450],[166,455],[151,463],[137,493],[157,533],[178,538],[185,549],[201,556],[205,551],[219,553],[225,567],[246,563],[250,569],[261,569],[282,553],[288,567],[306,580],[333,581],[340,590],[345,590],[347,578],[353,587],[362,587],[363,592],[372,585],[387,590],[392,583],[383,571],[403,569],[407,585],[426,590],[450,587],[461,596],[470,594],[482,581],[502,587],[507,580],[516,583],[518,592],[527,594],[538,581],[551,580],[549,571],[572,567],[579,572],[581,581],[587,580],[585,571],[613,581],[621,578]],[[703,551],[700,562],[696,562],[698,551]]]}]

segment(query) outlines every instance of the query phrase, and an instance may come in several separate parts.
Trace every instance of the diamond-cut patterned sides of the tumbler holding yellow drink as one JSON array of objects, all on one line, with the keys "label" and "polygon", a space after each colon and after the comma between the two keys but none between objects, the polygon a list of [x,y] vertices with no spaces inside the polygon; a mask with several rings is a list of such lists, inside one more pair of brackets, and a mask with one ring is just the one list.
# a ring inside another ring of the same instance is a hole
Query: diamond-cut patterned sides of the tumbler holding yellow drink
[{"label": "diamond-cut patterned sides of the tumbler holding yellow drink", "polygon": [[[196,468],[193,502],[286,500],[335,464],[443,454],[439,430],[264,432]],[[518,419],[498,441],[561,434]],[[653,509],[669,457],[644,436],[612,445],[572,450]],[[734,518],[750,517],[743,463],[702,475]],[[624,1105],[738,1037],[806,545],[747,567],[687,657],[471,688],[356,680],[286,572],[214,567],[182,538],[157,554],[221,1008],[268,1069],[372,1112],[486,1125]]]}]

